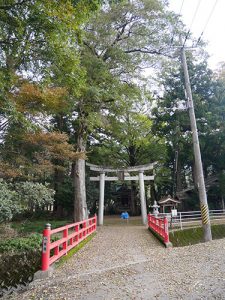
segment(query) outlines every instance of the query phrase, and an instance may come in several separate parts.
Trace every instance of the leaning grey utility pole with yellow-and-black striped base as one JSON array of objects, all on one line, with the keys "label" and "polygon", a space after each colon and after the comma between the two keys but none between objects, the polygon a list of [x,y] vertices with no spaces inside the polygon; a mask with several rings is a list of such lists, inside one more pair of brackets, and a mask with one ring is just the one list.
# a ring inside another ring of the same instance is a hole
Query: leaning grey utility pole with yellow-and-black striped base
[{"label": "leaning grey utility pole with yellow-and-black striped base", "polygon": [[[180,37],[180,44],[183,45],[181,37]],[[197,130],[196,119],[195,119],[195,110],[194,110],[194,104],[192,99],[192,91],[191,91],[184,46],[181,47],[181,61],[182,61],[182,66],[184,71],[185,89],[187,93],[187,104],[188,104],[189,117],[191,123],[192,141],[194,147],[195,167],[197,171],[197,181],[198,181],[197,185],[198,185],[198,193],[199,193],[199,200],[200,200],[200,207],[201,207],[204,241],[208,242],[212,240],[212,233],[211,233],[210,219],[209,219],[209,208],[208,208],[207,195],[205,189],[205,180],[204,180],[204,174],[202,168],[202,158],[201,158],[201,151],[200,151],[200,145],[198,140],[198,130]]]}]

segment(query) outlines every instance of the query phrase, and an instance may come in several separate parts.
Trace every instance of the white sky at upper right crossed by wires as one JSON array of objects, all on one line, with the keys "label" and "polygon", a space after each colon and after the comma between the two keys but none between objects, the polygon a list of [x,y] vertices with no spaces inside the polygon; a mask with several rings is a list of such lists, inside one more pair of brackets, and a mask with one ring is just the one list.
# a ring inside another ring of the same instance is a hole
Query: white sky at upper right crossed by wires
[{"label": "white sky at upper right crossed by wires", "polygon": [[[170,9],[176,13],[180,12],[183,0],[169,0]],[[212,69],[217,67],[221,61],[225,62],[225,0],[201,0],[200,6],[191,27],[193,35],[198,38],[210,12],[217,1],[213,15],[203,34],[203,40],[208,42],[207,51],[210,54],[209,66]],[[181,19],[187,28],[190,28],[199,0],[184,0],[184,5],[181,11]]]}]

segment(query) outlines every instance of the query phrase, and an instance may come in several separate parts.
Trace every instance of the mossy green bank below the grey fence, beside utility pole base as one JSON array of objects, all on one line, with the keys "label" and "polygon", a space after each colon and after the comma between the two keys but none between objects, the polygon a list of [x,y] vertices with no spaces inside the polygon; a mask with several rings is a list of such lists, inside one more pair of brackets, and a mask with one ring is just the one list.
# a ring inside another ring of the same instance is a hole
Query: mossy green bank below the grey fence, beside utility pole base
[{"label": "mossy green bank below the grey fence, beside utility pole base", "polygon": [[[212,225],[213,240],[225,238],[225,224]],[[170,242],[174,247],[183,247],[203,242],[202,227],[188,228],[170,232]]]}]

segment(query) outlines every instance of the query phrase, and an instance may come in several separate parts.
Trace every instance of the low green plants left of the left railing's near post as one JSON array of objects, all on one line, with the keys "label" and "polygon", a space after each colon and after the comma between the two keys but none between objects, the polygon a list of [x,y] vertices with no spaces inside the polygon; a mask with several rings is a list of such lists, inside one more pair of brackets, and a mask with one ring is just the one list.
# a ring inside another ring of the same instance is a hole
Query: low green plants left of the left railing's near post
[{"label": "low green plants left of the left railing's near post", "polygon": [[28,237],[12,238],[0,241],[0,253],[20,253],[29,250],[40,250],[42,243],[41,234],[32,234]]}]

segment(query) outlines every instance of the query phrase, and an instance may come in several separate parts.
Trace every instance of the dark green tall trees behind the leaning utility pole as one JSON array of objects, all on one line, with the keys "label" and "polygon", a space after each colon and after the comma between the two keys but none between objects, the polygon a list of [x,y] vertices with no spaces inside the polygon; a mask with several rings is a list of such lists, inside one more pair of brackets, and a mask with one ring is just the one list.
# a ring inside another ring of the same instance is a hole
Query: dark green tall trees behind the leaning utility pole
[{"label": "dark green tall trees behind the leaning utility pole", "polygon": [[[205,57],[197,58],[187,53],[187,61],[204,174],[206,178],[215,174],[220,176],[225,166],[225,97],[224,81],[221,77],[223,72],[218,70],[218,75],[215,76],[208,68]],[[188,110],[185,108],[184,78],[180,63],[165,64],[160,82],[164,87],[164,93],[162,97],[158,97],[157,105],[153,109],[153,132],[164,137],[166,141],[167,156],[164,169],[165,171],[167,169],[165,173],[170,175],[167,177],[169,179],[167,182],[162,181],[159,184],[159,191],[161,195],[164,193],[176,194],[190,185],[197,186],[190,120]],[[162,177],[159,179],[161,180]],[[214,189],[214,192],[217,198],[220,198],[218,190]],[[193,201],[184,201],[186,209],[194,209],[196,206],[194,200],[198,202],[198,197],[195,199],[193,196],[192,198]],[[215,202],[213,207],[218,208],[220,204],[215,196],[211,199],[211,202],[213,201]],[[188,202],[189,205],[187,205]]]}]

